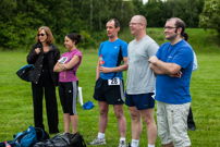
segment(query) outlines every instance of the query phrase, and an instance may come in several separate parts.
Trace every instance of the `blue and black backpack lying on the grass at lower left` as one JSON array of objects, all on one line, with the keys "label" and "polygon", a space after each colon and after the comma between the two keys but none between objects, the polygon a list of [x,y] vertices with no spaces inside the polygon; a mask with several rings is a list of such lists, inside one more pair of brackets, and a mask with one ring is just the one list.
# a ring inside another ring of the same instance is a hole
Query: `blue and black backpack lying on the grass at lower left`
[{"label": "blue and black backpack lying on the grass at lower left", "polygon": [[14,135],[13,143],[15,143],[17,147],[30,147],[37,142],[47,138],[49,138],[47,132],[45,132],[41,128],[33,127],[32,125],[29,125],[29,127],[26,131],[20,132],[16,135]]}]

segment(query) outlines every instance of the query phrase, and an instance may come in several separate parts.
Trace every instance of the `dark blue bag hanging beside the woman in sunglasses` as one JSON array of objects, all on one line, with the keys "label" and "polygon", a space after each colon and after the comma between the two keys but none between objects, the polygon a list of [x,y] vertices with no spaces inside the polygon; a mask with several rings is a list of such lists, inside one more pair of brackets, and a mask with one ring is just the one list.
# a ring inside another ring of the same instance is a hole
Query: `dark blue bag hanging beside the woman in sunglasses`
[{"label": "dark blue bag hanging beside the woman in sunglasses", "polygon": [[34,68],[34,64],[23,65],[22,68],[20,68],[20,70],[16,71],[16,75],[23,81],[30,82],[29,72]]}]

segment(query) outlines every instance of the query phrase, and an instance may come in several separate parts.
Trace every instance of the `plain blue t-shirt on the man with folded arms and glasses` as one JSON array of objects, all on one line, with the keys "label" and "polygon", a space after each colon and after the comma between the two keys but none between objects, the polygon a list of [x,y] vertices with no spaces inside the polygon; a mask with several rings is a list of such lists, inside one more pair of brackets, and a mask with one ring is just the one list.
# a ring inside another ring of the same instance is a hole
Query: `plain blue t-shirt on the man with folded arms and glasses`
[{"label": "plain blue t-shirt on the man with folded arms and glasses", "polygon": [[157,75],[156,78],[156,100],[171,105],[182,105],[190,102],[190,83],[193,71],[193,49],[185,40],[175,45],[166,42],[160,46],[156,53],[157,58],[163,62],[175,63],[182,66],[181,77],[169,75]]}]

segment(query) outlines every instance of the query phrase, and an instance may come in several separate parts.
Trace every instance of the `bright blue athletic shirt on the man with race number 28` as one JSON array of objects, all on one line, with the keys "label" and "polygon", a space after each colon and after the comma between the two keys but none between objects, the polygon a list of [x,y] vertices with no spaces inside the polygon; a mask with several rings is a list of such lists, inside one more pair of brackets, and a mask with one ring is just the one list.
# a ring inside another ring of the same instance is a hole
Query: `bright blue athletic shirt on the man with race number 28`
[{"label": "bright blue athletic shirt on the man with race number 28", "polygon": [[[103,66],[106,68],[115,68],[117,61],[119,57],[119,51],[122,51],[122,57],[127,57],[127,44],[121,39],[117,39],[113,42],[110,42],[109,40],[101,42],[99,47],[98,56],[102,54],[102,59],[105,61]],[[102,79],[111,79],[113,77],[114,73],[100,73],[100,77]],[[117,73],[115,77],[119,77],[120,79],[123,79],[123,73],[119,72]]]}]

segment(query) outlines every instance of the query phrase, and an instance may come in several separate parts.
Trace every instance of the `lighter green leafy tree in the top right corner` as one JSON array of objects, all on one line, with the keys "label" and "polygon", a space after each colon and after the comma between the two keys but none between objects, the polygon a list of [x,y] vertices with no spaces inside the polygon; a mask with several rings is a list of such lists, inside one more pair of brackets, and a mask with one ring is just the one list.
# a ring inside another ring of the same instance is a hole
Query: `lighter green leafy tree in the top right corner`
[{"label": "lighter green leafy tree in the top right corner", "polygon": [[215,28],[220,36],[220,0],[206,0],[203,13],[199,15],[199,26]]}]

